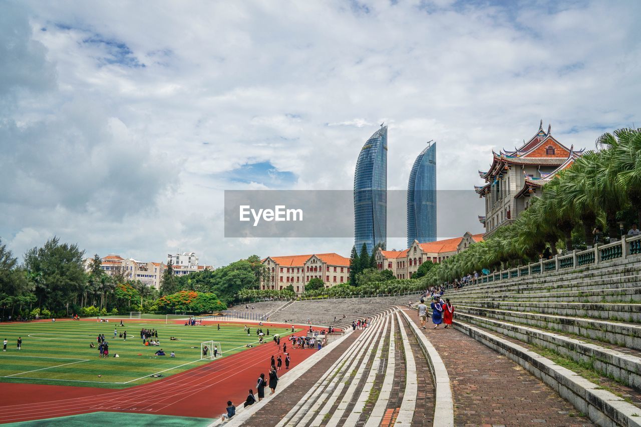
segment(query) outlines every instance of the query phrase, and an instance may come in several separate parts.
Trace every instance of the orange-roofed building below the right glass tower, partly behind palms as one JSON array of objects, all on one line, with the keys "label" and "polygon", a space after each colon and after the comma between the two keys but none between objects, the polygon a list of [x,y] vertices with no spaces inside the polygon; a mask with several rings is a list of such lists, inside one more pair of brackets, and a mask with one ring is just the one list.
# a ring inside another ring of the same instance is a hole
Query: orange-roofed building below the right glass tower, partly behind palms
[{"label": "orange-roofed building below the right glass tower, partly behind palms", "polygon": [[379,248],[376,251],[376,266],[378,270],[392,270],[396,278],[412,278],[423,262],[428,260],[434,263],[441,262],[467,250],[472,243],[481,240],[483,240],[483,234],[465,232],[460,238],[426,243],[419,243],[415,240],[406,250],[382,250]]}]

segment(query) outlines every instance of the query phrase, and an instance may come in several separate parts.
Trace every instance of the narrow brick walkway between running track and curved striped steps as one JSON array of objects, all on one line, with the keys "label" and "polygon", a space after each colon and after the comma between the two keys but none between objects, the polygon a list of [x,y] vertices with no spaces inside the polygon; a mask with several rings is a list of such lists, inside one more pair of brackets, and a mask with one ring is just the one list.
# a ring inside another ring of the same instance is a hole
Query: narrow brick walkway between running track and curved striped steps
[{"label": "narrow brick walkway between running track and curved striped steps", "polygon": [[[289,412],[296,403],[303,398],[313,385],[319,380],[325,371],[338,360],[340,355],[342,355],[345,350],[354,342],[358,335],[362,334],[363,330],[356,330],[347,338],[345,341],[341,342],[333,348],[325,357],[320,359],[320,362],[315,364],[309,371],[307,371],[303,376],[298,378],[295,383],[291,384],[285,392],[277,394],[274,398],[269,397],[269,389],[265,387],[265,399],[269,401],[253,414],[251,418],[243,426],[275,426],[281,421],[281,418]],[[294,350],[292,351],[292,357],[295,357],[297,351],[318,351],[318,350]],[[320,350],[324,351],[324,350]],[[258,378],[258,376],[256,376]],[[255,391],[254,391],[255,392]]]}]

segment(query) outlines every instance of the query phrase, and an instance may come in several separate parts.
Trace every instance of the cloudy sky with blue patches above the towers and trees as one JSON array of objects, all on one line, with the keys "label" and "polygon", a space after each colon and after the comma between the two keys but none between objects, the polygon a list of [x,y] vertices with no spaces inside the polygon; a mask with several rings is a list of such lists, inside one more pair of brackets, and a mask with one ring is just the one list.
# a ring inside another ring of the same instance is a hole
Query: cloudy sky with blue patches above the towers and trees
[{"label": "cloudy sky with blue patches above the towers and trees", "polygon": [[226,239],[222,192],[351,189],[383,121],[390,189],[428,140],[439,189],[479,184],[541,118],[592,148],[641,124],[640,19],[636,0],[0,1],[0,238],[215,266],[348,255]]}]

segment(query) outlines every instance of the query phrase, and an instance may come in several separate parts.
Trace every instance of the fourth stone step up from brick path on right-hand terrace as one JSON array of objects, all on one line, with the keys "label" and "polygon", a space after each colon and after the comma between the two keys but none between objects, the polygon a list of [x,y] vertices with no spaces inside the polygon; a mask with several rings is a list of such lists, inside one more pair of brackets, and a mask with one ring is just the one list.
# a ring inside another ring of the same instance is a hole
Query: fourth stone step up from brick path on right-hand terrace
[{"label": "fourth stone step up from brick path on right-hand terrace", "polygon": [[510,302],[510,301],[474,301],[449,298],[457,305],[479,307],[483,309],[511,310],[558,316],[585,317],[592,319],[610,319],[629,323],[641,323],[641,304],[631,303],[578,303],[578,302]]}]

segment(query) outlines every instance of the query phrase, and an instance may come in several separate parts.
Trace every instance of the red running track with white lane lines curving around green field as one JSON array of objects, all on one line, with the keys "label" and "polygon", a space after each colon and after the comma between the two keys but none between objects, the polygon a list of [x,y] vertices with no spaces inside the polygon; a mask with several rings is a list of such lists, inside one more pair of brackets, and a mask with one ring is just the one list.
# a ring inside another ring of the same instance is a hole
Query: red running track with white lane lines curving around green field
[{"label": "red running track with white lane lines curving around green field", "polygon": [[[304,333],[297,332],[296,335]],[[290,348],[290,369],[315,351]],[[267,342],[153,383],[117,391],[94,387],[0,383],[0,423],[96,411],[215,418],[224,412],[228,400],[235,404],[242,403],[249,389],[256,392],[256,379],[260,373],[267,376],[272,355],[278,355],[278,348]],[[279,376],[287,373],[284,365]]]}]

